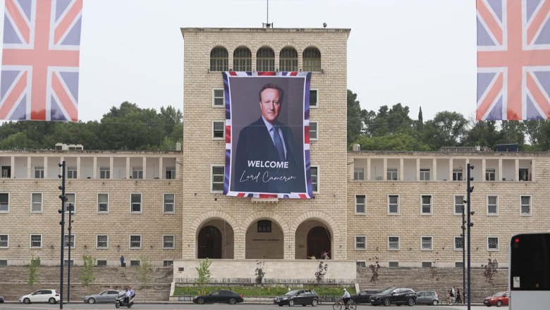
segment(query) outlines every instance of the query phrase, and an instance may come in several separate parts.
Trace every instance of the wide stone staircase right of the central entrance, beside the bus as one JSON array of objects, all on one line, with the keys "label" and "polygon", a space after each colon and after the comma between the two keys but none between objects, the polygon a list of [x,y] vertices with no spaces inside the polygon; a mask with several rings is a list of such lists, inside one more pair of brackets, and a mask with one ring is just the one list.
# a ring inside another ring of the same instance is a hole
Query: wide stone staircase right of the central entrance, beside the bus
[{"label": "wide stone staircase right of the central entrance, beside the bus", "polygon": [[[492,284],[486,281],[484,271],[484,268],[472,268],[471,270],[472,303],[482,303],[485,297],[508,290],[508,269],[499,269],[494,275]],[[392,286],[409,287],[416,292],[434,290],[439,294],[441,300],[454,285],[460,289],[463,300],[465,300],[462,292],[462,268],[380,268],[378,273],[378,279],[371,282],[372,271],[370,268],[357,267],[357,283],[360,290],[365,288],[383,290]]]}]

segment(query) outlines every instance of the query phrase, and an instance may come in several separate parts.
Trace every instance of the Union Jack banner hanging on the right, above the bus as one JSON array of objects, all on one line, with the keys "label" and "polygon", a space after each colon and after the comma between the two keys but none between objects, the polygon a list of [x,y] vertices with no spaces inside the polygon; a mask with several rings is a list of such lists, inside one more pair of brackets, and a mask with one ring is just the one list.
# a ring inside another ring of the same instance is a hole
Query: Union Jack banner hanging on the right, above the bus
[{"label": "Union Jack banner hanging on the right, above the bus", "polygon": [[477,120],[550,118],[550,0],[476,0]]}]

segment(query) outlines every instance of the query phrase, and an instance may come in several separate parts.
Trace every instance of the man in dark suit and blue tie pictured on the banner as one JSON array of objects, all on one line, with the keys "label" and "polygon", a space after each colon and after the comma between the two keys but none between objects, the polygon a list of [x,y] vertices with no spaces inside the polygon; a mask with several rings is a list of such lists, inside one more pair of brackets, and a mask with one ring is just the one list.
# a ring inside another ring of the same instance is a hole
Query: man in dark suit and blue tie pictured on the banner
[{"label": "man in dark suit and blue tie pictured on the banner", "polygon": [[236,192],[305,192],[302,147],[295,147],[287,125],[279,122],[284,92],[267,84],[259,91],[262,116],[240,131],[233,170]]}]

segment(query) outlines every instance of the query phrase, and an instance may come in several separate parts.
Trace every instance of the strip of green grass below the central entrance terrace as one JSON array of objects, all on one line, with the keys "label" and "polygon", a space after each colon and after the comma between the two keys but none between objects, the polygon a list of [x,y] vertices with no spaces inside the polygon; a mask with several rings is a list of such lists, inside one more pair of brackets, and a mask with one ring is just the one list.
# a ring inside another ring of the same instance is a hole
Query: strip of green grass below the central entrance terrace
[{"label": "strip of green grass below the central entrance terrace", "polygon": [[[231,289],[233,292],[243,294],[244,296],[279,296],[288,292],[286,287],[259,287],[259,286],[236,286],[236,287],[226,287],[226,286],[208,286],[204,287],[204,292],[200,290],[200,287],[183,287],[178,286],[173,292],[174,296],[182,295],[200,295],[200,294],[209,294],[215,290],[228,290]],[[355,294],[355,287],[346,287],[350,294]],[[319,285],[319,286],[303,286],[303,287],[291,287],[291,290],[314,290],[319,294],[319,296],[342,296],[343,287],[338,286],[328,286],[328,285]]]}]

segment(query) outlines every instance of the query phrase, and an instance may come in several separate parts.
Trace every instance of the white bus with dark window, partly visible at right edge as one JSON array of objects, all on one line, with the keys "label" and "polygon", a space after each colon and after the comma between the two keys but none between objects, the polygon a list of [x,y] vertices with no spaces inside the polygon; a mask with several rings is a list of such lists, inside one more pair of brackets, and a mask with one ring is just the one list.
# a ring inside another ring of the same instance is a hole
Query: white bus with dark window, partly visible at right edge
[{"label": "white bus with dark window, partly visible at right edge", "polygon": [[508,309],[550,309],[550,233],[514,235],[509,259]]}]

